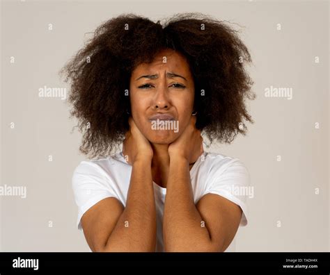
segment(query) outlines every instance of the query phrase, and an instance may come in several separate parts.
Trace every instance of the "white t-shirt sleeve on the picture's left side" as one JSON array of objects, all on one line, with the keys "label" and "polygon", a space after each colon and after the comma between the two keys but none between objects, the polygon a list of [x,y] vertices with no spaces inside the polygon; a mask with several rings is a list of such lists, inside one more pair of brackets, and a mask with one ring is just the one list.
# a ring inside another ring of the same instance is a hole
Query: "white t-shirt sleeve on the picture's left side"
[{"label": "white t-shirt sleeve on the picture's left side", "polygon": [[117,197],[111,188],[111,178],[91,161],[82,161],[72,176],[74,200],[78,206],[77,227],[81,229],[81,217],[97,202],[107,197]]}]

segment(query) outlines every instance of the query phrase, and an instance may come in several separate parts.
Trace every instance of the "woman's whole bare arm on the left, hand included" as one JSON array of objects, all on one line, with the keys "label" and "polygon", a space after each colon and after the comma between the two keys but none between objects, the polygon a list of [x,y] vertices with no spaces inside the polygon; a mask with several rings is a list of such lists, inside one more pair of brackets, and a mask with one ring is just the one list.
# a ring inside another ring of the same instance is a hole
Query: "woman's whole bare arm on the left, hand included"
[{"label": "woman's whole bare arm on the left, hand included", "polygon": [[152,148],[132,119],[124,142],[124,154],[132,165],[125,208],[107,198],[81,219],[93,251],[155,251],[156,209],[152,185]]}]

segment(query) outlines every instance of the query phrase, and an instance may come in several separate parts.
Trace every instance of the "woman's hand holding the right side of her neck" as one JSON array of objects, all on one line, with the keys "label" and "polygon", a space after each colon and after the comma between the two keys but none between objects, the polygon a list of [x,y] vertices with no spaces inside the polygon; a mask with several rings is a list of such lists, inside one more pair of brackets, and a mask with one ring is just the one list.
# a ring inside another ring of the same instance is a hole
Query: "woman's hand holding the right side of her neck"
[{"label": "woman's hand holding the right side of her neck", "polygon": [[171,158],[182,157],[189,163],[194,163],[203,153],[203,138],[196,128],[196,116],[191,116],[190,122],[183,133],[168,146]]}]

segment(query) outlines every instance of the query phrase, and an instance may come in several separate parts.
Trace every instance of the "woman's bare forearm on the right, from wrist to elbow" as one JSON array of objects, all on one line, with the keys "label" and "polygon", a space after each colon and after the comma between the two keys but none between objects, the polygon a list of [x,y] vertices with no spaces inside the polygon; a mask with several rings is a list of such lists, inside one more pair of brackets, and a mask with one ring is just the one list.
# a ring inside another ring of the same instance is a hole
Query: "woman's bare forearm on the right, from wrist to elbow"
[{"label": "woman's bare forearm on the right, from wrist to elbow", "polygon": [[191,188],[189,163],[170,160],[163,220],[166,251],[207,251],[210,235],[203,224]]}]

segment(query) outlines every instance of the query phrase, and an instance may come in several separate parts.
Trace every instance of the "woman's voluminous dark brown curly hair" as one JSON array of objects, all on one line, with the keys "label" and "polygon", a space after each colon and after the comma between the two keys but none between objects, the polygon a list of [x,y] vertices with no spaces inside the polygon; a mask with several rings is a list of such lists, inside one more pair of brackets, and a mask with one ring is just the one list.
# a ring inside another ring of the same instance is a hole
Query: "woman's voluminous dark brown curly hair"
[{"label": "woman's voluminous dark brown curly hair", "polygon": [[174,15],[164,24],[125,14],[99,26],[61,70],[71,85],[68,102],[83,133],[82,153],[107,156],[123,142],[129,129],[131,72],[152,62],[162,49],[173,49],[187,59],[195,84],[196,128],[211,143],[230,143],[237,133],[246,135],[244,120],[253,119],[245,99],[255,99],[256,94],[244,67],[251,56],[237,31],[199,13]]}]

